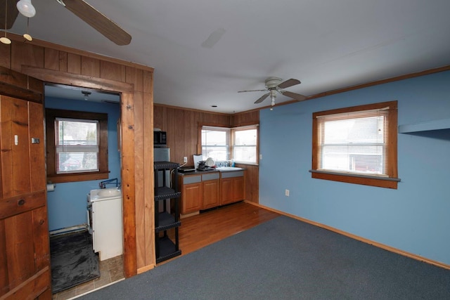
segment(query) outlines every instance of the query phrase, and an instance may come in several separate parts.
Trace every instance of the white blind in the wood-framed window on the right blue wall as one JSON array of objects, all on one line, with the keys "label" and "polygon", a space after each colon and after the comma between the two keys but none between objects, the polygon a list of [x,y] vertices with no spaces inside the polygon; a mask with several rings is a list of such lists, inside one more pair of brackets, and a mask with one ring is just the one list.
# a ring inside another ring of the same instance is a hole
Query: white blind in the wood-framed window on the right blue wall
[{"label": "white blind in the wood-framed window on the right blue wall", "polygon": [[317,117],[319,170],[388,176],[389,107]]}]

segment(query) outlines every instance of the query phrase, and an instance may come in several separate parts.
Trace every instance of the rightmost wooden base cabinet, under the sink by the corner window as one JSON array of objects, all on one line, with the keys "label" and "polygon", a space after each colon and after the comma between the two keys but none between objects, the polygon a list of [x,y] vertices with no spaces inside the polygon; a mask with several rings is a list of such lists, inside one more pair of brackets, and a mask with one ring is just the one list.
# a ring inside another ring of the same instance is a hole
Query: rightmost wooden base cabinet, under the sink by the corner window
[{"label": "rightmost wooden base cabinet, under the sink by the corner window", "polygon": [[230,204],[244,200],[244,171],[222,172],[220,179],[220,204]]}]

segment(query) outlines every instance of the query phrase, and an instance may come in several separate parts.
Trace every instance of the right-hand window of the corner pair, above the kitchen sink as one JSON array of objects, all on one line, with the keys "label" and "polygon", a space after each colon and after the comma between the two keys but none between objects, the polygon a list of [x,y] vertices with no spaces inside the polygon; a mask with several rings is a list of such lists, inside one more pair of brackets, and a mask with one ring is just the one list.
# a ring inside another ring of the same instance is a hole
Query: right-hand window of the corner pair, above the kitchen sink
[{"label": "right-hand window of the corner pair, above the kitchen sink", "polygon": [[257,163],[257,126],[238,127],[233,133],[233,159],[236,162]]}]

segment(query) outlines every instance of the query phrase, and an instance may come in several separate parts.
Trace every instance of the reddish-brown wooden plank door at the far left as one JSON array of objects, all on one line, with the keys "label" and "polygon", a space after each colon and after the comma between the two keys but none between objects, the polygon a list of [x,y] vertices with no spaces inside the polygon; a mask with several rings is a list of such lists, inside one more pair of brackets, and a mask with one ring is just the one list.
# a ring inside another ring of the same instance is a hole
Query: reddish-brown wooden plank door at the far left
[{"label": "reddish-brown wooden plank door at the far left", "polygon": [[43,89],[0,67],[0,299],[51,299]]}]

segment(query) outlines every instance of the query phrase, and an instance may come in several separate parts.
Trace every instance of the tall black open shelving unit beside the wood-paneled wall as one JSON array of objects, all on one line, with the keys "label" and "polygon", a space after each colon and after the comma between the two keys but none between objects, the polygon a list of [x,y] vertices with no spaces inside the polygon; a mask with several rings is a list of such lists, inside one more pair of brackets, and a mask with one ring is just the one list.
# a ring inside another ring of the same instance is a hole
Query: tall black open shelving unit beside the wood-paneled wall
[{"label": "tall black open shelving unit beside the wood-paneled wall", "polygon": [[[176,162],[155,162],[155,250],[156,250],[156,263],[161,261],[166,261],[167,259],[172,259],[175,256],[181,255],[181,250],[179,249],[179,236],[178,229],[181,226],[179,221],[179,199],[181,193],[178,191],[178,167],[179,164]],[[169,178],[166,178],[167,174],[170,174],[170,170],[174,171],[174,185],[172,187],[167,187],[166,182]],[[162,174],[162,181],[164,184],[160,186],[158,184],[158,174]],[[167,211],[167,203],[171,200],[174,201],[174,211]],[[160,206],[160,202],[164,204]],[[162,211],[158,209],[162,207]],[[174,230],[175,237],[174,240],[169,238],[167,235],[167,230]]]}]

